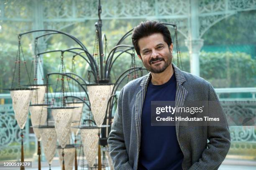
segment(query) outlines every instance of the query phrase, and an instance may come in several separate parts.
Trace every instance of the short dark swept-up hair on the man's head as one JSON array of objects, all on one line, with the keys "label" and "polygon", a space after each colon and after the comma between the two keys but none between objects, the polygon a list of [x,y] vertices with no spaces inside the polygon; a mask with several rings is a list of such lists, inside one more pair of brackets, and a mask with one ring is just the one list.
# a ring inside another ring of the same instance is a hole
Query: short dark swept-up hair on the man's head
[{"label": "short dark swept-up hair on the man's head", "polygon": [[154,33],[161,33],[164,37],[164,41],[167,43],[168,46],[172,44],[170,31],[168,30],[166,25],[164,25],[164,23],[151,20],[144,21],[136,26],[132,33],[133,46],[138,55],[141,55],[140,47],[138,46],[138,40]]}]

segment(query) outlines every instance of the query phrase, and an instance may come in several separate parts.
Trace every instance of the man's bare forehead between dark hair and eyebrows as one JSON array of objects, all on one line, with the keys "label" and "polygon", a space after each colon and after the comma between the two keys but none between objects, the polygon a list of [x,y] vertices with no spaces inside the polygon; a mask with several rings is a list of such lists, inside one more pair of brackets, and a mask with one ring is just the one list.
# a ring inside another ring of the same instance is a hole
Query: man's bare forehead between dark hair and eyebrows
[{"label": "man's bare forehead between dark hair and eyebrows", "polygon": [[146,48],[152,48],[159,44],[166,44],[164,41],[164,37],[161,33],[154,33],[152,35],[149,35],[147,37],[142,37],[138,40],[138,46],[140,47],[140,50],[144,50]]}]

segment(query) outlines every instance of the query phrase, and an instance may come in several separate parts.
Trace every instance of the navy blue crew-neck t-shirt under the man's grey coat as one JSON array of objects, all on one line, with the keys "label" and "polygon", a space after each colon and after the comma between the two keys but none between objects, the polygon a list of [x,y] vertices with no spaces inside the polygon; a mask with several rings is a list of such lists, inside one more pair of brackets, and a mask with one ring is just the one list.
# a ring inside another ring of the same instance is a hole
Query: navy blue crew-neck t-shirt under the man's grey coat
[{"label": "navy blue crew-neck t-shirt under the man's grey coat", "polygon": [[151,101],[175,101],[175,95],[174,74],[163,85],[148,84],[141,114],[138,170],[182,170],[183,154],[175,126],[151,126]]}]

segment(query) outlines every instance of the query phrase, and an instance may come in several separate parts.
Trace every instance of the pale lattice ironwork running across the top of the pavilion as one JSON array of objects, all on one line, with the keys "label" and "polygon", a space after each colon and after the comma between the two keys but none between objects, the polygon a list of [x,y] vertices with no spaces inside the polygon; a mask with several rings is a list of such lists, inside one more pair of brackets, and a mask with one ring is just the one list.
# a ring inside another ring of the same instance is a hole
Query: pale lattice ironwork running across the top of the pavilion
[{"label": "pale lattice ironwork running across the top of the pavilion", "polygon": [[[196,1],[196,0],[195,0]],[[191,0],[102,0],[102,20],[156,19],[177,21],[178,28],[189,37],[188,25],[192,10],[198,10],[200,37],[215,23],[239,11],[256,10],[255,0],[198,0],[198,9],[191,9]],[[115,5],[113,5],[115,4]],[[21,5],[21,6],[20,6]],[[61,30],[75,22],[97,19],[97,0],[1,0],[0,20],[31,22],[37,8],[43,13],[36,22],[45,29]],[[35,22],[35,21],[34,21]],[[57,24],[56,24],[57,23]],[[173,23],[173,22],[172,22]],[[182,29],[183,28],[183,29]]]}]

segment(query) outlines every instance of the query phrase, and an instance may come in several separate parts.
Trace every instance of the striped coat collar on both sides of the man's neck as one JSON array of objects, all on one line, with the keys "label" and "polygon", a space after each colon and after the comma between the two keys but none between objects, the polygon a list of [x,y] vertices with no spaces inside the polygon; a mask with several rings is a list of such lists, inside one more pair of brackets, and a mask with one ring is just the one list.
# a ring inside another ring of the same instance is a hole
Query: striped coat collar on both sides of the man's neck
[{"label": "striped coat collar on both sides of the man's neck", "polygon": [[[185,82],[186,79],[184,77],[183,72],[178,67],[176,67],[176,65],[174,65],[173,63],[172,63],[172,67],[174,68],[174,74],[176,77],[177,84],[182,84],[183,82]],[[143,77],[141,81],[141,87],[147,87],[149,81],[151,80],[151,77],[152,77],[151,72],[145,75],[145,77]]]}]

